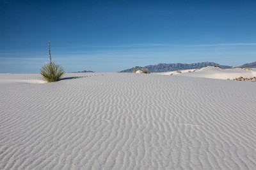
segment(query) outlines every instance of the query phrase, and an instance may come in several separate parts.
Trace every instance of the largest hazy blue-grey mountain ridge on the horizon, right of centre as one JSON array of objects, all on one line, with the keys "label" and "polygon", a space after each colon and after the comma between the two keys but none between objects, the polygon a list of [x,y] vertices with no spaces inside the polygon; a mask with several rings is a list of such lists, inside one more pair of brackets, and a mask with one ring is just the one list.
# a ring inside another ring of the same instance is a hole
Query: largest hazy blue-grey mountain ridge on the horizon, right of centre
[{"label": "largest hazy blue-grey mountain ridge on the horizon, right of centre", "polygon": [[230,68],[230,66],[221,66],[220,64],[217,64],[215,62],[197,62],[192,64],[182,64],[182,63],[176,63],[176,64],[166,64],[166,63],[160,63],[156,65],[150,65],[145,67],[132,67],[130,69],[125,69],[123,71],[120,71],[120,73],[131,73],[134,69],[148,69],[148,71],[151,71],[152,73],[159,73],[159,72],[166,72],[166,71],[177,71],[182,69],[199,69],[202,67],[207,66],[220,66],[223,69]]}]

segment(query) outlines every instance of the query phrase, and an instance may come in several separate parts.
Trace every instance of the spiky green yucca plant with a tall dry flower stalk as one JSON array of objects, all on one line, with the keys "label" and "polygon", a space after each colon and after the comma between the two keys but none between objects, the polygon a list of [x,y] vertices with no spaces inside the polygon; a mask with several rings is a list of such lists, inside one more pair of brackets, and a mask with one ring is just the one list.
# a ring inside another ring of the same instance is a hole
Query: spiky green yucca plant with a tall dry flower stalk
[{"label": "spiky green yucca plant with a tall dry flower stalk", "polygon": [[65,73],[62,66],[52,62],[51,51],[50,51],[50,41],[49,41],[49,56],[50,62],[46,63],[40,69],[40,74],[43,76],[43,79],[48,83],[61,80],[61,76]]}]

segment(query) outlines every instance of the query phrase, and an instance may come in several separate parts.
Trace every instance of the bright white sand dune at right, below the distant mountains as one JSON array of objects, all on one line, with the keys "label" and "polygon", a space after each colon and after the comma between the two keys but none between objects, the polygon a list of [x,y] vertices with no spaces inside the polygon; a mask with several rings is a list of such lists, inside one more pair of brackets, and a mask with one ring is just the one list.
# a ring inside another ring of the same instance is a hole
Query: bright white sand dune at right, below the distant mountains
[{"label": "bright white sand dune at right, below the distant mountains", "polygon": [[[195,72],[194,72],[195,71]],[[175,76],[191,76],[191,77],[201,77],[201,78],[215,78],[223,80],[233,80],[234,78],[244,77],[252,78],[256,76],[256,70],[245,70],[240,68],[234,69],[221,69],[219,67],[208,66],[202,69],[190,69],[190,70],[180,70],[181,73],[177,71],[170,71],[165,73],[154,73],[154,74],[163,74],[163,75],[175,75]]]}]

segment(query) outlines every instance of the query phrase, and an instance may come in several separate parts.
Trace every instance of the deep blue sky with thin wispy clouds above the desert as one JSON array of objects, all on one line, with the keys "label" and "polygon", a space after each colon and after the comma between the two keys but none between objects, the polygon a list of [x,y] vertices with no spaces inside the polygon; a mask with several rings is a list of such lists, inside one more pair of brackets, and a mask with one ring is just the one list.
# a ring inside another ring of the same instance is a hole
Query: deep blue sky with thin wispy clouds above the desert
[{"label": "deep blue sky with thin wispy clouds above the desert", "polygon": [[256,60],[256,1],[0,0],[0,73]]}]

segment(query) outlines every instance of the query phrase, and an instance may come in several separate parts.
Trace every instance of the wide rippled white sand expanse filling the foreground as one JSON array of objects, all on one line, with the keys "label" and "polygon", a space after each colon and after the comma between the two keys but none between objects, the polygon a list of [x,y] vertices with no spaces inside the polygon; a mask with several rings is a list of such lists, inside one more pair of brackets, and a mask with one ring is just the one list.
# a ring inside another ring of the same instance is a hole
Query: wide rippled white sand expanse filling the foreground
[{"label": "wide rippled white sand expanse filling the foreground", "polygon": [[256,167],[256,83],[65,76],[0,74],[0,169]]}]

